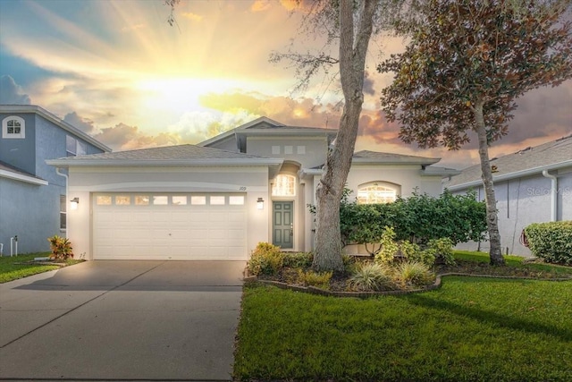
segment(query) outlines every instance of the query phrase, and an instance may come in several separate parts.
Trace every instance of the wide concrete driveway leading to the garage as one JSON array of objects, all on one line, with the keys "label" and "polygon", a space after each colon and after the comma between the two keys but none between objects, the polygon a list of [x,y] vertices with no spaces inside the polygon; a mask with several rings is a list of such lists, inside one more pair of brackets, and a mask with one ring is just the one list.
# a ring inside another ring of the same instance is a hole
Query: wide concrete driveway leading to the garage
[{"label": "wide concrete driveway leading to the garage", "polygon": [[0,379],[230,380],[242,261],[88,261],[0,284]]}]

